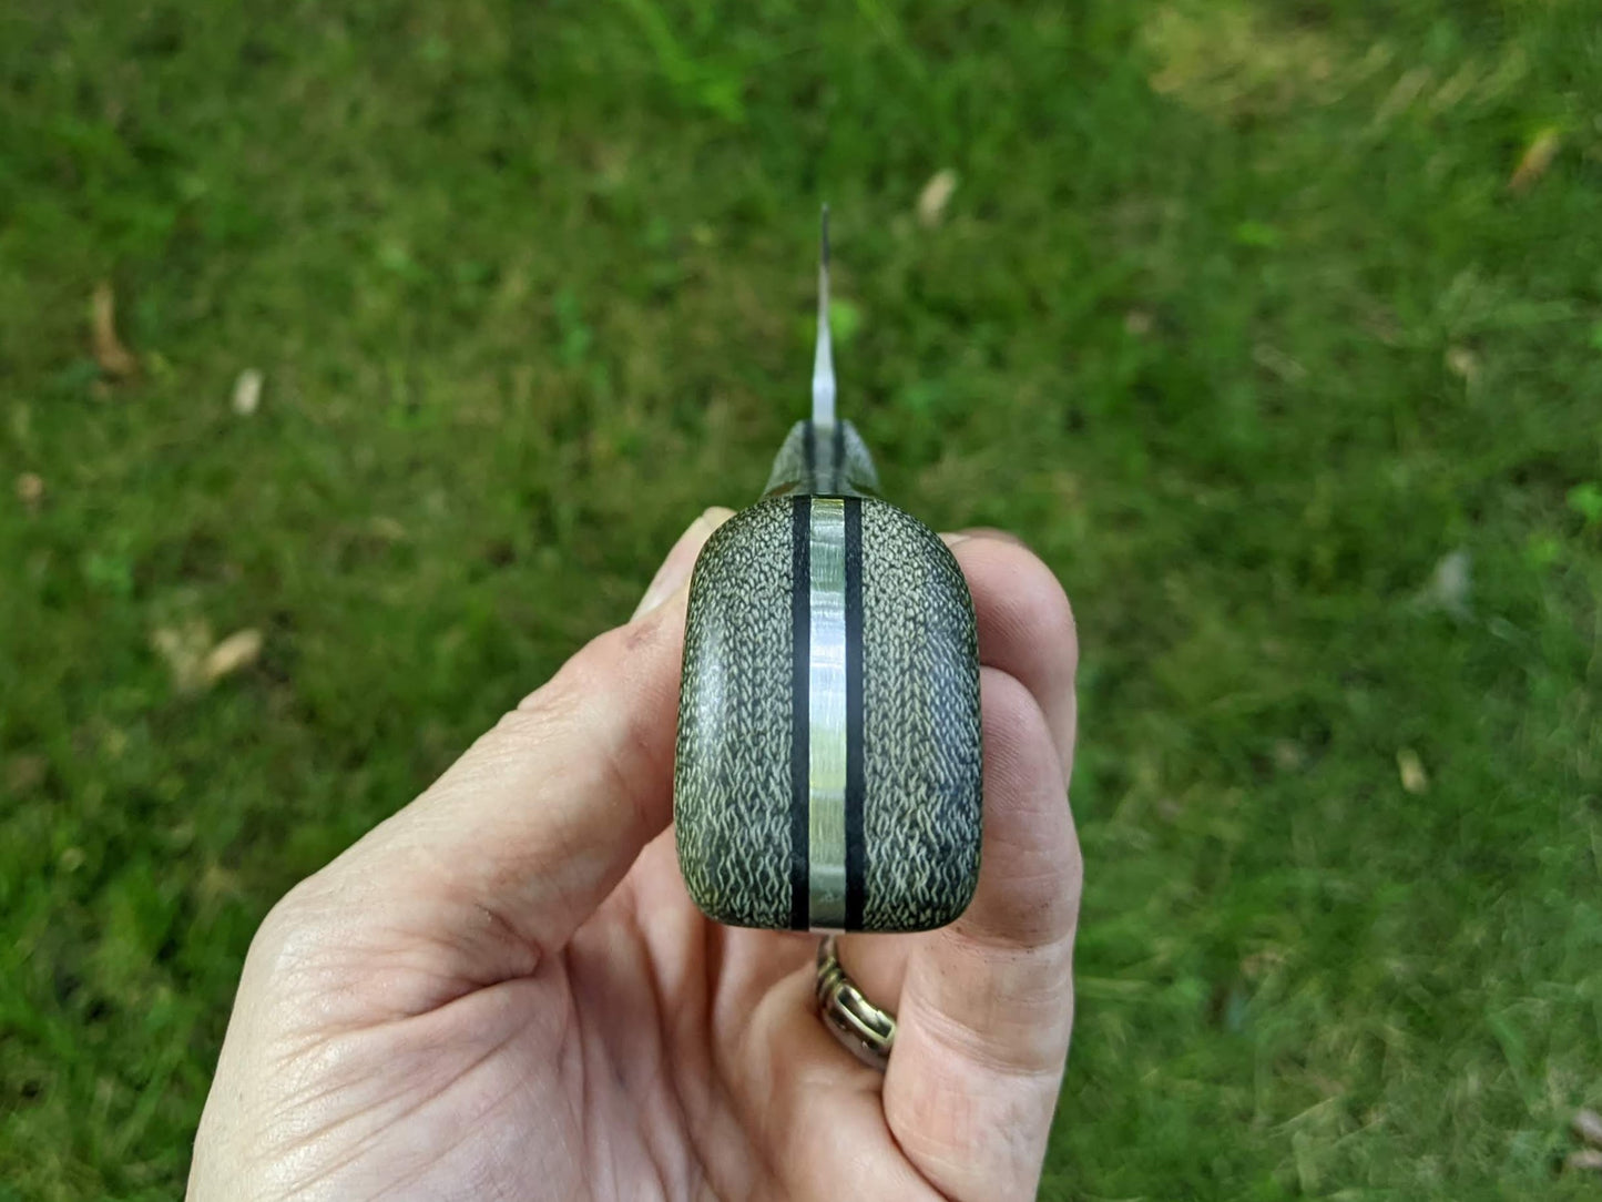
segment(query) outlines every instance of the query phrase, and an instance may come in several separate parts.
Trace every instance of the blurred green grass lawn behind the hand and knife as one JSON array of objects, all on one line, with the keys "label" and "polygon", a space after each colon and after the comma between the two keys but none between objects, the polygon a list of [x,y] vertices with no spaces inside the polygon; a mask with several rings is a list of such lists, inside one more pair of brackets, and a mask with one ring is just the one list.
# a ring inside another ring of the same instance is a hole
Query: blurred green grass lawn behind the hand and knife
[{"label": "blurred green grass lawn behind the hand and knife", "polygon": [[1592,3],[11,0],[0,1197],[178,1192],[272,901],[756,494],[822,199],[1078,609],[1043,1194],[1597,1196]]}]

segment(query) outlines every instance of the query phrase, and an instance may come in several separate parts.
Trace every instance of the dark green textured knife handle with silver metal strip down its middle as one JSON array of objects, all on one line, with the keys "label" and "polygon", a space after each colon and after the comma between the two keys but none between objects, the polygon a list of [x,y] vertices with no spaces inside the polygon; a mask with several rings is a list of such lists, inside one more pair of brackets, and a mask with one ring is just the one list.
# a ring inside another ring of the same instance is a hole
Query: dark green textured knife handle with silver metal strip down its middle
[{"label": "dark green textured knife handle with silver metal strip down its middle", "polygon": [[921,931],[979,878],[972,599],[875,487],[849,423],[798,423],[695,564],[674,832],[718,922]]}]

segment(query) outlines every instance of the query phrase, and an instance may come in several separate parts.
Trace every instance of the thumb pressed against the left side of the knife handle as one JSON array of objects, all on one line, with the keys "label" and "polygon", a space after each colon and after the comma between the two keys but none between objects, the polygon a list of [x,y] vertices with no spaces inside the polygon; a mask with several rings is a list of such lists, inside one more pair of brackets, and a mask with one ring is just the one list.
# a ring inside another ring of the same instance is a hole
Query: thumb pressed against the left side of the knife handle
[{"label": "thumb pressed against the left side of the knife handle", "polygon": [[668,825],[687,582],[729,516],[697,518],[628,625],[593,639],[285,899],[328,920],[319,926],[351,979],[375,981],[349,997],[364,1018],[423,1013],[532,973]]}]

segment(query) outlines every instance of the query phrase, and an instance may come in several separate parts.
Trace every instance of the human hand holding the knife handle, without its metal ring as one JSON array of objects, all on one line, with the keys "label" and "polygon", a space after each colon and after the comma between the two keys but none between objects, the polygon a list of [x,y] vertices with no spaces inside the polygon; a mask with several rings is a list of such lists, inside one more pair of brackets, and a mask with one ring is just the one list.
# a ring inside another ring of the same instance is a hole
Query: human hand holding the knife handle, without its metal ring
[{"label": "human hand holding the knife handle, without its metal ring", "polygon": [[984,856],[952,926],[846,936],[883,1075],[814,1013],[817,938],[690,902],[671,780],[679,538],[641,612],[268,915],[189,1199],[1017,1199],[1073,1016],[1077,644],[1027,550],[952,535],[979,617]]}]

